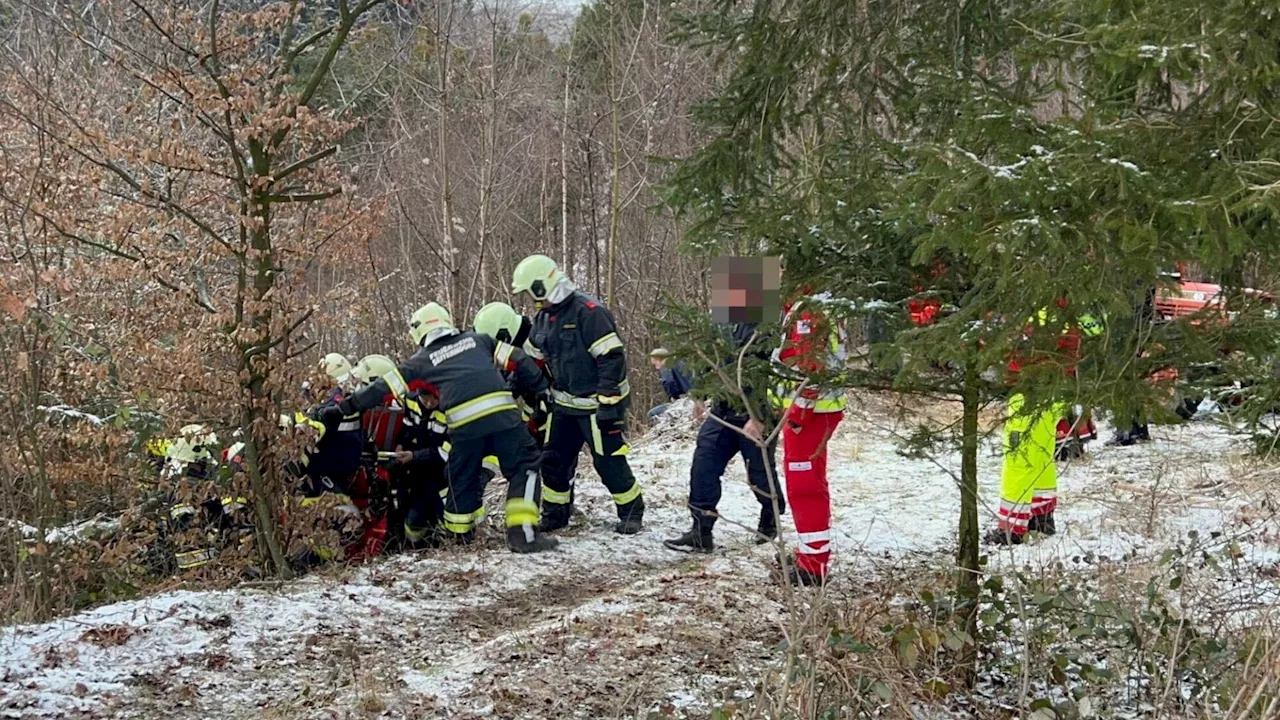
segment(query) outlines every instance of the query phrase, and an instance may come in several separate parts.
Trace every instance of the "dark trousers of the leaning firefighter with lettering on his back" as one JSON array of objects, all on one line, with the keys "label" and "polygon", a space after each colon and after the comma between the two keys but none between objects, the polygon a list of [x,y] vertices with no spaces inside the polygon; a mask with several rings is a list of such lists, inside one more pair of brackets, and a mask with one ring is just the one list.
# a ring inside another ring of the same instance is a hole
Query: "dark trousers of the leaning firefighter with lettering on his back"
[{"label": "dark trousers of the leaning firefighter with lettering on his back", "polygon": [[444,529],[466,536],[484,518],[484,471],[486,456],[498,459],[507,478],[507,527],[538,524],[540,482],[538,443],[524,428],[476,438],[456,439],[449,450],[449,488],[444,498]]}]

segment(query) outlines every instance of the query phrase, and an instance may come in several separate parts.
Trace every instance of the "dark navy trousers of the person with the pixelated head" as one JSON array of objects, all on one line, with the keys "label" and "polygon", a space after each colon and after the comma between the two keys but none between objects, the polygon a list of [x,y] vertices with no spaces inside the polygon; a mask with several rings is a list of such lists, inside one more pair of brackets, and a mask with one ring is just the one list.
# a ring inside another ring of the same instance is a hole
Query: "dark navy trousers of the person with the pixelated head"
[{"label": "dark navy trousers of the person with the pixelated head", "polygon": [[[737,429],[726,427],[724,423],[740,429],[746,424],[746,418],[721,418],[719,420],[707,418],[698,430],[694,466],[689,473],[689,510],[694,516],[694,525],[704,532],[710,532],[716,525],[716,506],[719,505],[721,498],[721,478],[735,455],[742,456],[746,479],[751,483],[755,500],[760,503],[760,519],[777,523],[773,514],[774,498],[778,503],[778,511],[786,512],[787,509],[782,493],[776,492],[778,474],[773,457],[777,446],[771,445],[768,454],[765,454],[746,436]],[[765,469],[765,462],[768,462],[768,469]],[[773,487],[771,487],[771,477]]]}]

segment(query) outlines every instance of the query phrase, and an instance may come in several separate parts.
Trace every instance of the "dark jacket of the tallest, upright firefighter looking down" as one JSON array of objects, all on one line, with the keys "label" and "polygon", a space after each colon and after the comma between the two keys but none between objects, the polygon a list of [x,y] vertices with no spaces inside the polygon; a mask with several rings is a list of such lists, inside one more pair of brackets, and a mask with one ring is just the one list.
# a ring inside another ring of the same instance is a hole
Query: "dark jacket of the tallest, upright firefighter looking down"
[{"label": "dark jacket of the tallest, upright firefighter looking down", "polygon": [[530,340],[547,359],[553,402],[586,415],[602,406],[621,415],[631,402],[627,359],[613,314],[599,300],[573,291],[534,318]]}]

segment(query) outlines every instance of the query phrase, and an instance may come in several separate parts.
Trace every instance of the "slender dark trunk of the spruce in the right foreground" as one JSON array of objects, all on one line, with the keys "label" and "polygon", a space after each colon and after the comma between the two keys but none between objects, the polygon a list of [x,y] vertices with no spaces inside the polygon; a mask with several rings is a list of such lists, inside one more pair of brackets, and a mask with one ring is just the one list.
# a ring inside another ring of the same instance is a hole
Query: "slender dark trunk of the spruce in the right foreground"
[{"label": "slender dark trunk of the spruce in the right foreground", "polygon": [[964,418],[960,447],[960,534],[956,551],[956,610],[960,626],[973,642],[960,655],[960,680],[972,687],[978,660],[978,594],[982,574],[978,566],[978,374],[966,368],[964,374]]}]

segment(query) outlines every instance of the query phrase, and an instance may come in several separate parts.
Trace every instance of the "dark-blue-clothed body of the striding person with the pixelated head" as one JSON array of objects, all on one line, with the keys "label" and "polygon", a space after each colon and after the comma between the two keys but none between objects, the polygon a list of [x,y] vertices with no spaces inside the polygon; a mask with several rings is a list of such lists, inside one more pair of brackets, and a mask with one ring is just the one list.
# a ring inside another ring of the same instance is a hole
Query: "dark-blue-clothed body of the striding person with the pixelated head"
[{"label": "dark-blue-clothed body of the striding person with the pixelated head", "polygon": [[[728,323],[721,325],[732,338],[733,351],[724,359],[724,365],[737,361],[739,351],[755,333],[755,323]],[[763,357],[768,350],[763,348]],[[769,410],[768,393],[751,392],[744,387],[749,401],[756,401],[756,418]],[[786,511],[786,501],[778,487],[777,466],[774,464],[776,443],[762,450],[755,441],[762,439],[763,425],[728,402],[717,401],[712,406],[712,416],[698,429],[698,445],[694,448],[694,464],[689,477],[689,510],[694,516],[692,527],[678,538],[663,541],[669,550],[681,552],[712,552],[716,542],[712,530],[718,518],[716,506],[721,498],[721,478],[735,455],[742,456],[746,477],[760,503],[760,519],[756,525],[756,544],[763,544],[778,536],[777,512]],[[768,468],[765,468],[768,462]],[[774,509],[777,502],[777,509]]]}]

